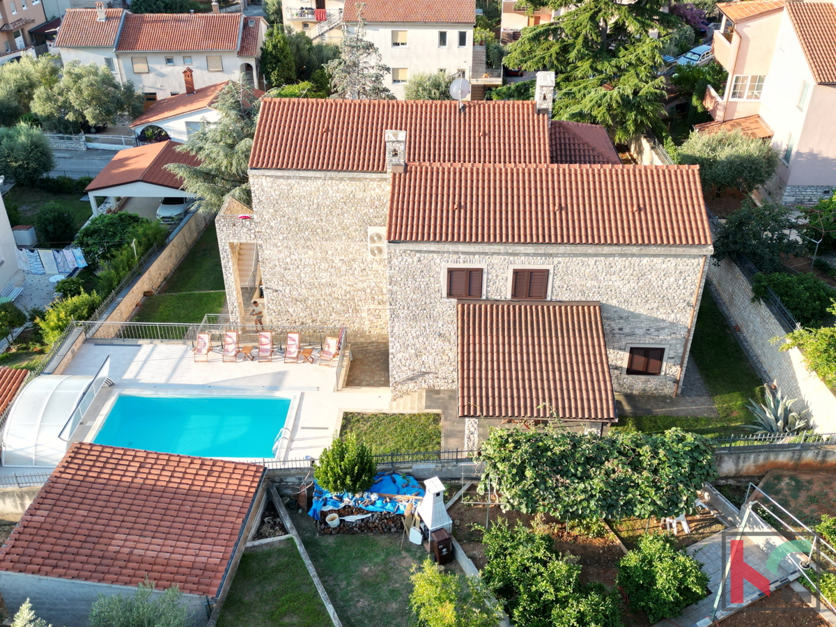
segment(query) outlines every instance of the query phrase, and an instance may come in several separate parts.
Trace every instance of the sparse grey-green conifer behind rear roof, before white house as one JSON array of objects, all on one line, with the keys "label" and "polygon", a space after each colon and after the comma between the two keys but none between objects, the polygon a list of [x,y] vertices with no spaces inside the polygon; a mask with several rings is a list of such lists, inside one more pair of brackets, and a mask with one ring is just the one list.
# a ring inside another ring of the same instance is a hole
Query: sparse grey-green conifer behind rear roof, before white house
[{"label": "sparse grey-green conifer behind rear roof, before white house", "polygon": [[365,38],[360,18],[354,33],[345,33],[340,41],[339,58],[324,65],[331,75],[331,98],[394,100],[395,94],[383,84],[391,70],[380,60],[380,50]]}]

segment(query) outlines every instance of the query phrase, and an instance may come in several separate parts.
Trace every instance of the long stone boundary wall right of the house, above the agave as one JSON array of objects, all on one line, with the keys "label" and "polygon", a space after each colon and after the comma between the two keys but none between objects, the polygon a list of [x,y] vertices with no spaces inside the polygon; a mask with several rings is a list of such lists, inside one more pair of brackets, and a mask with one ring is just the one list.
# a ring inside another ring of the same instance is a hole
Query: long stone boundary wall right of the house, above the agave
[{"label": "long stone boundary wall right of the house, above the agave", "polygon": [[772,311],[761,302],[752,303],[752,286],[737,266],[724,260],[720,266],[706,264],[708,279],[716,289],[734,322],[752,346],[757,358],[784,395],[798,399],[794,410],[807,408],[819,433],[836,432],[836,396],[817,375],[803,364],[801,351],[779,351],[782,342],[772,344],[785,331]]}]

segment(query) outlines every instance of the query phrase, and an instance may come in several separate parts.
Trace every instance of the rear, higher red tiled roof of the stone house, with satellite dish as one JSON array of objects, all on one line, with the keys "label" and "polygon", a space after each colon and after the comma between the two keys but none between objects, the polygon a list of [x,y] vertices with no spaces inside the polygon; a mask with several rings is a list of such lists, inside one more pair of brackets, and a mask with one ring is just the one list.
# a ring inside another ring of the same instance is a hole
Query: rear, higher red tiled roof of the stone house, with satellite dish
[{"label": "rear, higher red tiled roof of the stone house, with satellite dish", "polygon": [[383,172],[385,130],[407,161],[548,163],[548,116],[530,101],[263,99],[251,168]]}]

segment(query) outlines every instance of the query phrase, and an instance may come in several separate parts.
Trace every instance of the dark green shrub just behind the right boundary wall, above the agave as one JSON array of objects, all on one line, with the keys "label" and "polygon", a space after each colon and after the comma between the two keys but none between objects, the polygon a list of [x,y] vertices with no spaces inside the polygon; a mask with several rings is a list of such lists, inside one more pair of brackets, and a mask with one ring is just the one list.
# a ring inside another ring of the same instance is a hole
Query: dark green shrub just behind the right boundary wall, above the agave
[{"label": "dark green shrub just behind the right boundary wall, above the agave", "polygon": [[789,313],[804,326],[821,324],[836,296],[815,274],[769,273],[755,275],[752,302],[766,300],[767,288],[772,288]]}]

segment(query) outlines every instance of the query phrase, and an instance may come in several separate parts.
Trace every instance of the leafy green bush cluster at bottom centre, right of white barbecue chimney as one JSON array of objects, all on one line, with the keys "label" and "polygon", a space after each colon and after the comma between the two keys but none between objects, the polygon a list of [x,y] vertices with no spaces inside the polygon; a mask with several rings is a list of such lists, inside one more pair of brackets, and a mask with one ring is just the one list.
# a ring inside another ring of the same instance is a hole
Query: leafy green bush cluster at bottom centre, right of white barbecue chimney
[{"label": "leafy green bush cluster at bottom centre, right of white barbecue chimney", "polygon": [[516,627],[618,627],[619,598],[603,584],[584,584],[581,567],[553,550],[553,539],[500,519],[482,529],[482,580]]}]

